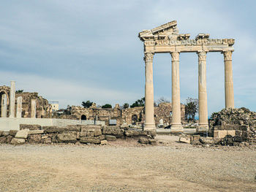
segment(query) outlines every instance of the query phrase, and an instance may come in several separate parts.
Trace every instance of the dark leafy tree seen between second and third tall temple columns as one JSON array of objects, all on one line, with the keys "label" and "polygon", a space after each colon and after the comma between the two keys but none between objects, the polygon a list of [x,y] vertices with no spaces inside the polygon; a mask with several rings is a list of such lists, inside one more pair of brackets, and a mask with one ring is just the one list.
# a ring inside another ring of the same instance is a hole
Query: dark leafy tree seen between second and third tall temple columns
[{"label": "dark leafy tree seen between second and third tall temple columns", "polygon": [[198,99],[188,98],[185,104],[185,116],[187,120],[195,120],[195,114],[198,112]]}]

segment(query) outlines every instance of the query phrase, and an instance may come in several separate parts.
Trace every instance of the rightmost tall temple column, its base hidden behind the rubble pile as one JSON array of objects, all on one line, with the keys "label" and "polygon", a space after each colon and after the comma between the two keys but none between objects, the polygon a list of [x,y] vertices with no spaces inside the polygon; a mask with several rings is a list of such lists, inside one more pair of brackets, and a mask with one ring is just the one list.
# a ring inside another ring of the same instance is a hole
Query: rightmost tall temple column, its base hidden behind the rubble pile
[{"label": "rightmost tall temple column, its base hidden behind the rubble pile", "polygon": [[225,63],[225,107],[234,108],[234,88],[233,88],[233,72],[232,72],[232,51],[222,52]]}]

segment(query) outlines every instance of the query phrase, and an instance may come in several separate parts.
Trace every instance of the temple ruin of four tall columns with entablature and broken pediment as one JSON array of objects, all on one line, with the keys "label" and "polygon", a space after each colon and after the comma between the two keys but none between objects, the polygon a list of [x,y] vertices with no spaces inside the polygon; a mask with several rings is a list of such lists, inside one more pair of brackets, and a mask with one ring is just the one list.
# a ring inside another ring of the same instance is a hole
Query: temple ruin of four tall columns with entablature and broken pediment
[{"label": "temple ruin of four tall columns with entablature and broken pediment", "polygon": [[199,126],[197,132],[208,131],[207,90],[206,90],[206,54],[220,52],[225,63],[225,108],[234,108],[232,47],[234,39],[209,39],[209,34],[198,34],[189,39],[190,34],[178,34],[176,20],[162,26],[144,30],[139,38],[144,44],[145,60],[145,129],[155,129],[154,123],[154,85],[153,58],[155,53],[170,53],[172,58],[172,108],[171,131],[183,132],[181,125],[181,101],[179,83],[180,53],[197,53],[198,55],[198,100]]}]

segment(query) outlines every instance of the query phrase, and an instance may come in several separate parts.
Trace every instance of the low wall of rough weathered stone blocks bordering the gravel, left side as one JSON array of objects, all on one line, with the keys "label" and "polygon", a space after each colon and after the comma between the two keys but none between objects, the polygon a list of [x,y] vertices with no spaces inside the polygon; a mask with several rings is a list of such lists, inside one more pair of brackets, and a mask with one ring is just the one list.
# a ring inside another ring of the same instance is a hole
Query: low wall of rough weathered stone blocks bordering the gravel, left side
[{"label": "low wall of rough weathered stone blocks bordering the gravel, left side", "polygon": [[20,145],[24,143],[93,143],[107,144],[116,139],[137,139],[142,144],[156,145],[156,131],[143,131],[136,128],[120,128],[115,126],[39,126],[20,125],[20,131],[0,131],[0,143]]}]

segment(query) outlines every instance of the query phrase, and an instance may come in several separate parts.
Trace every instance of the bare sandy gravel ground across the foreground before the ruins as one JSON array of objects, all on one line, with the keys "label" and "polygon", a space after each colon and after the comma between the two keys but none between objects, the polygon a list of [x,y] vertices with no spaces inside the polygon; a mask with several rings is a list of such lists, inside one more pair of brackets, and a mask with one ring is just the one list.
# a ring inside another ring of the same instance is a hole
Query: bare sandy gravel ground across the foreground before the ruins
[{"label": "bare sandy gravel ground across the foreground before the ruins", "polygon": [[256,150],[158,146],[0,145],[0,191],[256,191]]}]

